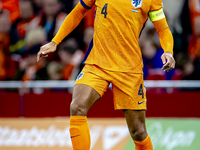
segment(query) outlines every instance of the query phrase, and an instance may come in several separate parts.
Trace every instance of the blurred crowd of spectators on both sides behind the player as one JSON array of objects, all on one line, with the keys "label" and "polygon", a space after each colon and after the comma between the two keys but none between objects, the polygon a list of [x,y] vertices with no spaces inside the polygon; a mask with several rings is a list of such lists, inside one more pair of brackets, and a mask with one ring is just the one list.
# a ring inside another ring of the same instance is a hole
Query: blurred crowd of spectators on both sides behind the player
[{"label": "blurred crowd of spectators on both sides behind the player", "polygon": [[[94,33],[93,7],[47,59],[36,54],[58,31],[79,0],[0,0],[0,80],[74,80]],[[168,18],[167,18],[168,19]],[[161,70],[163,50],[154,27],[140,38],[146,80],[200,80],[200,2],[185,0],[182,31],[173,24],[176,69]]]}]

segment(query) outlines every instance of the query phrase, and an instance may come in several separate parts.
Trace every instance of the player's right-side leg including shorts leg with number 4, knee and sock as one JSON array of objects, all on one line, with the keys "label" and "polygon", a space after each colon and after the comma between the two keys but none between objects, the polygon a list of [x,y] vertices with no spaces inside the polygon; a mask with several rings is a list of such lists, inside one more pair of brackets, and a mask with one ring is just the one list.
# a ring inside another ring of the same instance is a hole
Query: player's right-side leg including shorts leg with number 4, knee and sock
[{"label": "player's right-side leg including shorts leg with number 4, knee and sock", "polygon": [[145,127],[146,91],[143,75],[117,72],[115,76],[112,81],[115,109],[124,111],[136,150],[153,150]]}]

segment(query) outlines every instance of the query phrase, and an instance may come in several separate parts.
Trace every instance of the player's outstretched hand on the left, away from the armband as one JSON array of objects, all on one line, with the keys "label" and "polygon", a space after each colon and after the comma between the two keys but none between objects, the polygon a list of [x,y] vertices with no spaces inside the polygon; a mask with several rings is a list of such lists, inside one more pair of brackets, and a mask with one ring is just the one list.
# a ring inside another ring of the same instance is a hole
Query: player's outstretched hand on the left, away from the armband
[{"label": "player's outstretched hand on the left, away from the armband", "polygon": [[49,42],[40,47],[40,51],[37,53],[37,62],[40,60],[40,57],[46,58],[48,57],[48,53],[55,52],[56,48],[57,44],[55,42]]}]

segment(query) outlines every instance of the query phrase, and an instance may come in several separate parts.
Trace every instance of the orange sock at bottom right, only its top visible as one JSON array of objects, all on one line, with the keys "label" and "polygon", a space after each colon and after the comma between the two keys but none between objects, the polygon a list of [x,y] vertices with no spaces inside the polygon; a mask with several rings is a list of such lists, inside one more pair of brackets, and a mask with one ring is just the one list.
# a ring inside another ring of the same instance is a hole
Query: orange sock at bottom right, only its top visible
[{"label": "orange sock at bottom right, only its top visible", "polygon": [[143,141],[134,141],[135,150],[153,150],[153,145],[149,135]]}]

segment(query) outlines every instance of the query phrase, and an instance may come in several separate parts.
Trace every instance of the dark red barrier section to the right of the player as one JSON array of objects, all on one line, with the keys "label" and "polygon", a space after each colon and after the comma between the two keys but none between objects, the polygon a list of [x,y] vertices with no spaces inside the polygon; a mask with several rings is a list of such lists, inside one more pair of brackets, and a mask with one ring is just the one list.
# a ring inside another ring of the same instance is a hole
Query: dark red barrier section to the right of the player
[{"label": "dark red barrier section to the right of the player", "polygon": [[147,94],[147,117],[200,117],[200,92]]}]

